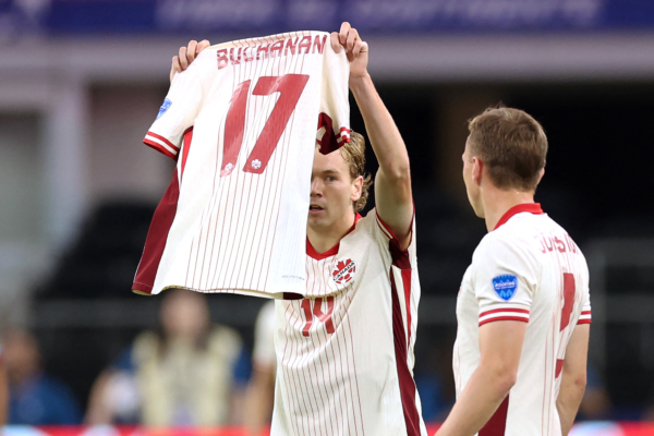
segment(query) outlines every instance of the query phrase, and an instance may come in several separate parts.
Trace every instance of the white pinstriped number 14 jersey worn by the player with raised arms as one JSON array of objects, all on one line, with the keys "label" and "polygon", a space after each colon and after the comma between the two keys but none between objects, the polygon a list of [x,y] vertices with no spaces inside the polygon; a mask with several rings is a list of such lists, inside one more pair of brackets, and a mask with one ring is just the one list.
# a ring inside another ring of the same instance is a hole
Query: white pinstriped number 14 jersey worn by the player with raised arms
[{"label": "white pinstriped number 14 jersey worn by the player with raised arms", "polygon": [[426,436],[413,380],[420,283],[373,209],[340,243],[307,241],[304,300],[276,301],[271,436]]}]

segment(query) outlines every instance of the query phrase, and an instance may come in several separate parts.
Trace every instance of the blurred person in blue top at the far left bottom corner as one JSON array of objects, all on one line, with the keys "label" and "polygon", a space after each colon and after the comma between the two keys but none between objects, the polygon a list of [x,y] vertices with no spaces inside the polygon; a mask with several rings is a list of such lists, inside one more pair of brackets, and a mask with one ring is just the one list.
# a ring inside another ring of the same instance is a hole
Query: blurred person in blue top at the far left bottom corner
[{"label": "blurred person in blue top at the far left bottom corner", "polygon": [[10,331],[2,360],[10,387],[9,424],[78,424],[80,410],[66,386],[44,374],[36,339],[27,331]]}]

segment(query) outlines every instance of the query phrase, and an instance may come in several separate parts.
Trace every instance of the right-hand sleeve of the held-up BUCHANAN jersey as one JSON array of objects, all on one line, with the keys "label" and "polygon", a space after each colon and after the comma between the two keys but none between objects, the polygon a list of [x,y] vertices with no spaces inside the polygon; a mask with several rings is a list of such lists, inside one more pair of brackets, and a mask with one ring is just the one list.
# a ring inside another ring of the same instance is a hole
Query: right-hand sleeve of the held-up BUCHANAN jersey
[{"label": "right-hand sleeve of the held-up BUCHANAN jersey", "polygon": [[320,153],[327,155],[350,142],[350,63],[344,50],[334,51],[328,35],[316,35],[315,38],[325,38],[316,141]]}]

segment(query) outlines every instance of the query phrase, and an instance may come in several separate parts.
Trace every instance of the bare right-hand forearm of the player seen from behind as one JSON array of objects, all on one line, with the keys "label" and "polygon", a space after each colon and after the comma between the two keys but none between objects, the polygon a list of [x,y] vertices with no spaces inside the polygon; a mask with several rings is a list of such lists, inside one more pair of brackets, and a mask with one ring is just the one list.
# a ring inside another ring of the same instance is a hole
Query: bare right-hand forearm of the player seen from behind
[{"label": "bare right-hand forearm of the player seen from behind", "polygon": [[574,331],[572,331],[572,337],[570,337],[568,348],[566,349],[561,388],[556,399],[556,409],[561,420],[561,433],[564,436],[572,428],[574,416],[585,391],[590,336],[590,324],[582,324],[574,327]]}]

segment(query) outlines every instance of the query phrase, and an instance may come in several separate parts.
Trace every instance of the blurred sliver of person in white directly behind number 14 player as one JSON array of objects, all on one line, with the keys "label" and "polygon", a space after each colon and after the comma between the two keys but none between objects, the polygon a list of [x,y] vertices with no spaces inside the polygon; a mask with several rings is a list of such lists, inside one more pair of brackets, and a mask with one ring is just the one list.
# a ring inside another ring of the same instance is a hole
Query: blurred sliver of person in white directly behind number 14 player
[{"label": "blurred sliver of person in white directly behind number 14 player", "polygon": [[270,423],[275,399],[275,301],[269,301],[259,311],[254,327],[254,351],[252,353],[252,378],[247,385],[245,400],[245,426],[247,436],[259,436]]}]

